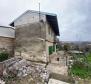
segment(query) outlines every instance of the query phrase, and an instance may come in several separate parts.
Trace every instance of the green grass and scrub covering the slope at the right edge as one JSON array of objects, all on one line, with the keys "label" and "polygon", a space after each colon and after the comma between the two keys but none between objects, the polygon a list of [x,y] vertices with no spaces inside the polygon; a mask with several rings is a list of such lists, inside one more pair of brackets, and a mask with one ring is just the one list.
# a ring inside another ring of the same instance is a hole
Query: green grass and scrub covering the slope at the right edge
[{"label": "green grass and scrub covering the slope at the right edge", "polygon": [[71,66],[70,73],[72,76],[78,76],[82,79],[91,78],[91,53],[85,55],[79,55],[75,58],[73,65]]}]

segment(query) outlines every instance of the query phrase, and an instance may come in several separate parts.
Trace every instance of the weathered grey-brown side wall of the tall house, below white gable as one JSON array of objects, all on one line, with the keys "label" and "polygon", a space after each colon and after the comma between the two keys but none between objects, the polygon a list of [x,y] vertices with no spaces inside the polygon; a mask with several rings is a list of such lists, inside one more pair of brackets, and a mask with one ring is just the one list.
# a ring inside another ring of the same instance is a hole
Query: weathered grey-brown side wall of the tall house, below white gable
[{"label": "weathered grey-brown side wall of the tall house, below white gable", "polygon": [[47,62],[45,23],[32,23],[16,27],[16,49],[15,55],[32,60]]}]

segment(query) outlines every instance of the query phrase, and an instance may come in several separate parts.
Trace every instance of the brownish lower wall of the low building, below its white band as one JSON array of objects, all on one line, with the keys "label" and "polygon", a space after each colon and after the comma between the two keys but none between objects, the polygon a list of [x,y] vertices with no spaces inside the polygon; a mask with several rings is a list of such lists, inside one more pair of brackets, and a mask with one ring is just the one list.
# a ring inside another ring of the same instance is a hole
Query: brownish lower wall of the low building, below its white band
[{"label": "brownish lower wall of the low building, below its white band", "polygon": [[14,38],[7,38],[0,36],[0,51],[6,50],[10,56],[14,55]]}]

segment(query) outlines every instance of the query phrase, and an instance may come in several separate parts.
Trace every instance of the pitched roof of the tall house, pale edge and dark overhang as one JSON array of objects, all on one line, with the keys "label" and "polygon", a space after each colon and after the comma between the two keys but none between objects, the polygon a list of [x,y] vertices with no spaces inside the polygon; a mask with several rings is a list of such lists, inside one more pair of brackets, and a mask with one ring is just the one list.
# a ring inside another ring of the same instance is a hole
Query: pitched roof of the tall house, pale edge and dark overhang
[{"label": "pitched roof of the tall house, pale edge and dark overhang", "polygon": [[43,14],[43,15],[46,15],[46,19],[47,21],[49,22],[49,24],[52,26],[53,28],[53,31],[55,32],[55,34],[57,36],[59,36],[59,27],[58,27],[58,21],[57,21],[57,15],[54,14],[54,13],[46,13],[46,12],[39,12],[39,11],[34,11],[34,10],[27,10],[26,12],[24,12],[22,15],[20,15],[18,18],[16,18],[15,20],[13,20],[11,23],[10,23],[10,26],[13,25],[13,23],[19,19],[20,17],[22,17],[24,14],[26,13],[40,13],[40,14]]}]

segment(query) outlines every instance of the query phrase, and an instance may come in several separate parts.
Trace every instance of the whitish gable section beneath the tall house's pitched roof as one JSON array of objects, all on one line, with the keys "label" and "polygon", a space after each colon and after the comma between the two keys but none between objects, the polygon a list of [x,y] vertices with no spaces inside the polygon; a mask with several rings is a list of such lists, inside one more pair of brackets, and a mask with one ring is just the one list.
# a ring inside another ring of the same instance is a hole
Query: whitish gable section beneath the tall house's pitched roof
[{"label": "whitish gable section beneath the tall house's pitched roof", "polygon": [[[41,14],[40,19],[45,21],[46,20],[45,15]],[[24,25],[24,24],[34,23],[34,22],[38,22],[38,21],[39,21],[39,14],[28,11],[25,14],[21,15],[19,18],[17,18],[14,22],[14,25],[18,26],[18,25]]]}]

